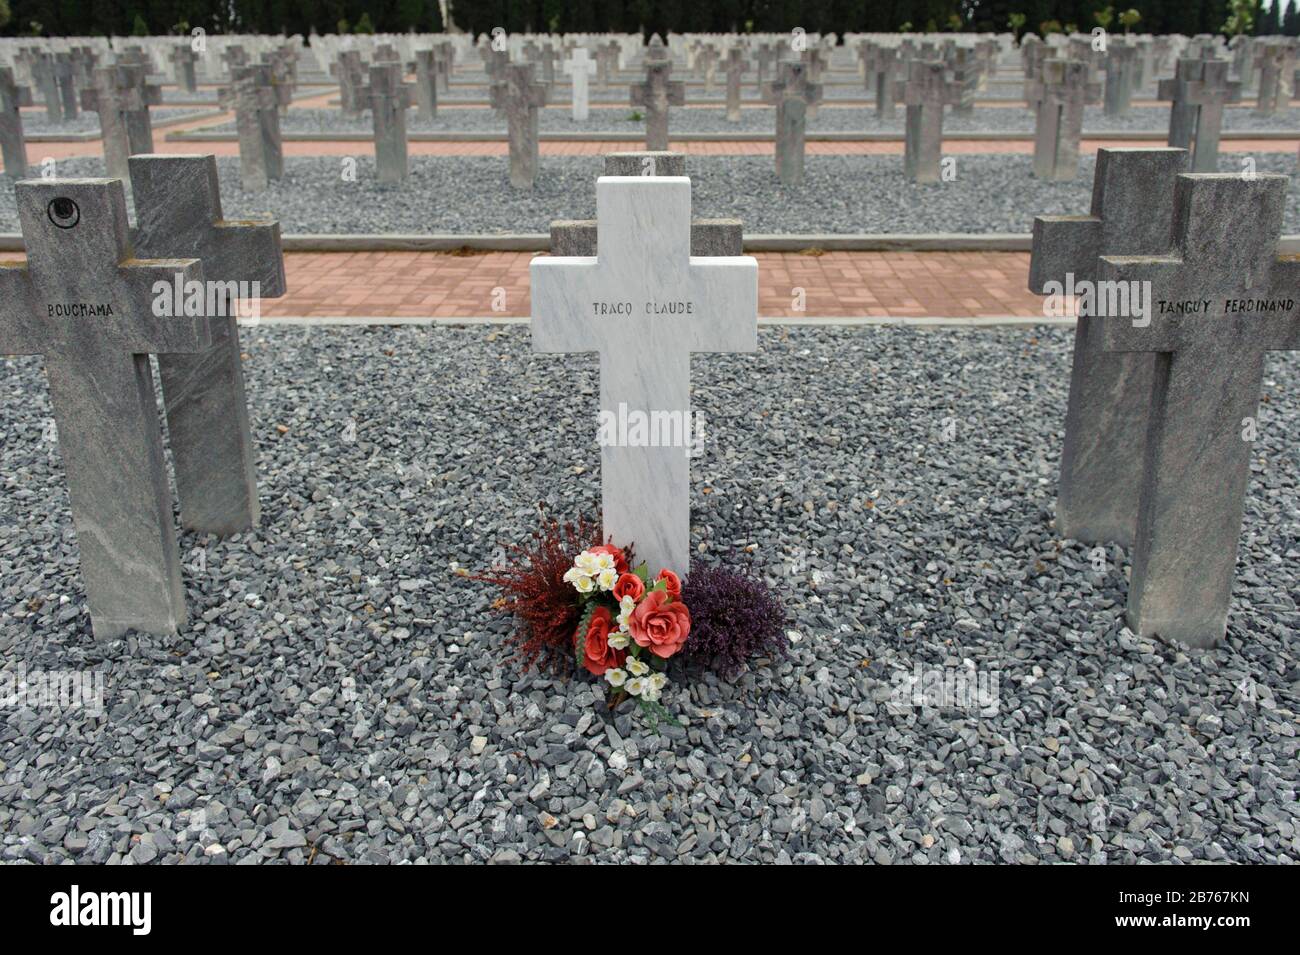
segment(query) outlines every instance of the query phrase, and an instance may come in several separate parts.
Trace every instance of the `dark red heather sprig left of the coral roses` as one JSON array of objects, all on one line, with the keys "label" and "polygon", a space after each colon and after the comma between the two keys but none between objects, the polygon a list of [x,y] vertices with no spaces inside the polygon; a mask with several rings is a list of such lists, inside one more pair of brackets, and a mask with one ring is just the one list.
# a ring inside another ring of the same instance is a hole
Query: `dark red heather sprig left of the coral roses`
[{"label": "dark red heather sprig left of the coral roses", "polygon": [[524,669],[573,669],[573,634],[581,609],[564,572],[573,556],[601,543],[601,525],[581,517],[560,524],[547,518],[525,544],[506,548],[506,565],[471,579],[494,583],[504,594],[495,609],[514,613],[519,630],[507,638]]}]

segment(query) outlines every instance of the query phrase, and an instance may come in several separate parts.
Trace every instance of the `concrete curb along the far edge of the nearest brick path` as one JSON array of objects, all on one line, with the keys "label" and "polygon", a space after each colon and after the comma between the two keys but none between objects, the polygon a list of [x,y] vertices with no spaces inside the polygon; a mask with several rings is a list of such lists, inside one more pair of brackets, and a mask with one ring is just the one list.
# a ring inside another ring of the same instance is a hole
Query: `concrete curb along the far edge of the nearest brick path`
[{"label": "concrete curb along the far edge of the nearest brick path", "polygon": [[[282,236],[286,252],[547,252],[550,235],[517,233],[510,235],[312,235]],[[1028,252],[1028,233],[993,235],[967,234],[879,234],[879,235],[746,235],[746,252]],[[23,252],[22,235],[0,233],[0,252]],[[1300,235],[1283,235],[1278,255],[1300,253]]]}]

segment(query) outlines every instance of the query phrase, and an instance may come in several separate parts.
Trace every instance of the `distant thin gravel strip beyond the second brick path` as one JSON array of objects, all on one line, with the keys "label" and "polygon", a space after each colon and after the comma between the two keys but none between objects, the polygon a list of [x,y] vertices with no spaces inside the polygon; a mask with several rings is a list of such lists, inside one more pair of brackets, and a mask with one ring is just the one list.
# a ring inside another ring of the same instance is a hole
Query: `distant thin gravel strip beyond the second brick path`
[{"label": "distant thin gravel strip beyond the second brick path", "polygon": [[[645,120],[633,120],[632,107],[593,109],[586,122],[575,122],[567,108],[542,109],[538,114],[538,127],[543,133],[637,133],[645,129]],[[823,108],[809,121],[811,131],[904,131],[904,109],[894,113],[893,121],[876,118],[874,107],[835,107]],[[670,130],[673,133],[762,133],[775,135],[775,110],[771,107],[748,108],[741,110],[740,122],[728,122],[725,109],[686,108],[673,109],[670,116]],[[1143,107],[1128,116],[1106,117],[1101,107],[1088,108],[1084,113],[1083,130],[1088,133],[1115,133],[1122,130],[1164,130],[1169,126],[1169,109]],[[1256,116],[1251,109],[1230,109],[1225,114],[1223,127],[1227,130],[1278,130],[1300,129],[1300,109],[1279,110],[1275,116]],[[211,127],[214,131],[235,134],[233,122]],[[285,133],[365,133],[373,130],[369,113],[359,118],[344,117],[337,109],[290,109],[281,120]],[[944,130],[948,133],[1032,133],[1034,114],[1028,109],[979,108],[972,116],[944,117]],[[443,109],[432,121],[421,121],[415,112],[407,114],[408,133],[506,133],[504,118],[498,118],[491,109]]]}]

